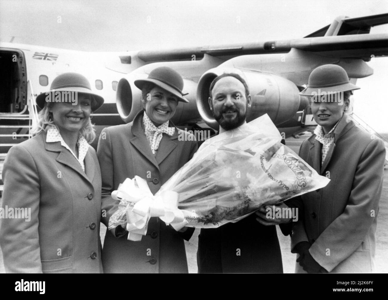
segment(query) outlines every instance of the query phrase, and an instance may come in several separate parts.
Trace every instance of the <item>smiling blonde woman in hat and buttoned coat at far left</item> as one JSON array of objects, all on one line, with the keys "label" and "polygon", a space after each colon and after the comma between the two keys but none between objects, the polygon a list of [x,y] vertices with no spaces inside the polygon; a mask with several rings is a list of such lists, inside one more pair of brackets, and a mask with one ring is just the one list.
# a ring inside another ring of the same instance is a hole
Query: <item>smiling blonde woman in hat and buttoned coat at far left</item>
[{"label": "smiling blonde woman in hat and buttoned coat at far left", "polygon": [[[33,138],[12,147],[4,162],[5,271],[101,273],[101,174],[88,143],[95,138],[90,113],[104,99],[76,73],[57,76],[51,90],[36,98],[42,110]],[[10,218],[11,210],[24,216]]]}]

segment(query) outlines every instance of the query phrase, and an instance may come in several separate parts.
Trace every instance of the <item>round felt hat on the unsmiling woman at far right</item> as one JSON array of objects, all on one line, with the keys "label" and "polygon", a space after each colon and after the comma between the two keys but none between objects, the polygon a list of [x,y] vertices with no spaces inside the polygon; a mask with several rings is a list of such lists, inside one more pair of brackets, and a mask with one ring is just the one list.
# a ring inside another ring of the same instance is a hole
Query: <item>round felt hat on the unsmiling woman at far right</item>
[{"label": "round felt hat on the unsmiling woman at far right", "polygon": [[332,94],[358,89],[358,86],[350,83],[348,74],[343,67],[329,64],[315,68],[308,77],[307,88],[299,94],[312,96],[315,93]]}]

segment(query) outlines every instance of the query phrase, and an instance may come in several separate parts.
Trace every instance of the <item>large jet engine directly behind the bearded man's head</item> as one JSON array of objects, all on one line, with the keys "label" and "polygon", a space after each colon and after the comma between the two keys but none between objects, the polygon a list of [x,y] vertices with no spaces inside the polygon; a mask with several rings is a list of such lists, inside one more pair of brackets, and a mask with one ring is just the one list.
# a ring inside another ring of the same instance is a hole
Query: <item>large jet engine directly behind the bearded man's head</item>
[{"label": "large jet engine directly behind the bearded man's head", "polygon": [[[278,125],[291,119],[297,111],[303,110],[307,105],[306,101],[300,100],[298,87],[286,78],[267,72],[235,70],[245,77],[252,97],[247,122],[268,114],[274,124]],[[201,76],[198,82],[198,111],[206,124],[213,129],[218,129],[218,123],[208,103],[210,84],[214,78],[228,71],[230,70],[220,67],[210,69]]]}]

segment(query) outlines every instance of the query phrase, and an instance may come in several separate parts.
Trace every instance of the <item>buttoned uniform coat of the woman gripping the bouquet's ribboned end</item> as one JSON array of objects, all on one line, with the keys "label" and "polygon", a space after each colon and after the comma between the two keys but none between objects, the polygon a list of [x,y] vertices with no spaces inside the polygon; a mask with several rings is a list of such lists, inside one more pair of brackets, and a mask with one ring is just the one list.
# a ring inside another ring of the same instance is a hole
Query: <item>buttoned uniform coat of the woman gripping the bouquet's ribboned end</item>
[{"label": "buttoned uniform coat of the woman gripping the bouquet's ribboned end", "polygon": [[[152,154],[143,126],[143,111],[133,122],[103,129],[97,148],[102,173],[102,222],[108,226],[109,217],[118,209],[119,201],[111,193],[126,178],[144,178],[153,194],[197,150],[197,143],[184,131],[173,136],[163,134],[156,157]],[[170,122],[170,127],[173,124]],[[179,135],[185,134],[180,141]],[[114,234],[112,234],[114,232]],[[188,272],[184,238],[189,240],[194,228],[179,233],[157,217],[148,224],[147,235],[141,241],[128,241],[128,233],[120,227],[108,231],[102,250],[104,272],[182,273]]]}]

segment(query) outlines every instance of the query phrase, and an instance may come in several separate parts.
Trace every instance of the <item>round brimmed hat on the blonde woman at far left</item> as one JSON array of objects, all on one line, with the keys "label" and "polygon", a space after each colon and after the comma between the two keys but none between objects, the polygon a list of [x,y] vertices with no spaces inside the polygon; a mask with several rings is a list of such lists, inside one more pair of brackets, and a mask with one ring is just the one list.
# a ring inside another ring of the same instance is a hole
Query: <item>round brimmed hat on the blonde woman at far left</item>
[{"label": "round brimmed hat on the blonde woman at far left", "polygon": [[[104,98],[92,93],[88,79],[78,73],[63,73],[52,81],[50,91],[75,91],[77,93],[88,94],[91,97],[90,107],[92,111],[99,109],[104,104]],[[47,93],[41,93],[36,97],[36,105],[43,109]]]}]

